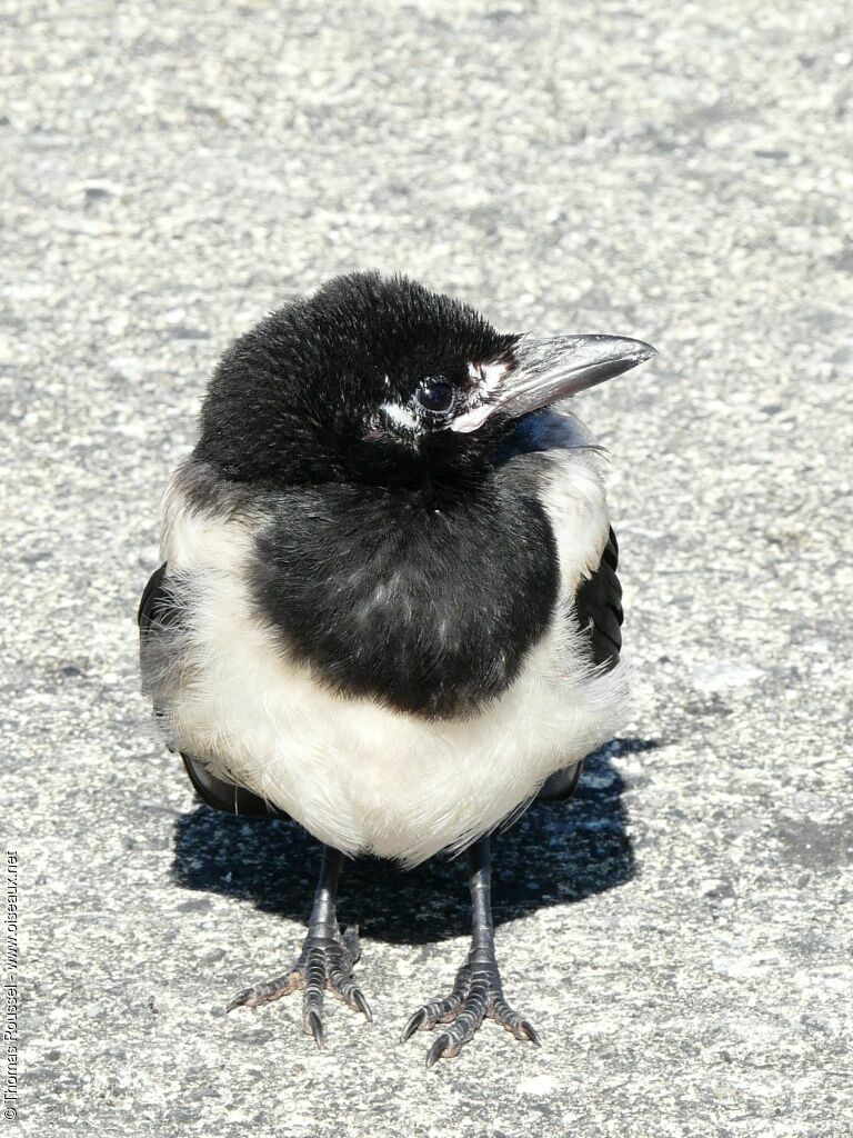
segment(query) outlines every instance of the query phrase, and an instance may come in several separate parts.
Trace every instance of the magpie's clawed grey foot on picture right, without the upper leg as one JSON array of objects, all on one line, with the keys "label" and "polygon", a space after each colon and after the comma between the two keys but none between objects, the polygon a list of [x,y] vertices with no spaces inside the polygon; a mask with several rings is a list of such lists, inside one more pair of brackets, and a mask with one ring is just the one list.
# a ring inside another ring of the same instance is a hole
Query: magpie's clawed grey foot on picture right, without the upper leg
[{"label": "magpie's clawed grey foot on picture right, without the upper leg", "polygon": [[452,1024],[437,1037],[426,1055],[426,1066],[431,1067],[440,1058],[458,1055],[487,1017],[495,1020],[516,1039],[529,1039],[540,1046],[533,1025],[504,999],[500,973],[494,959],[463,964],[456,973],[450,995],[420,1007],[403,1029],[400,1042],[416,1031],[429,1031],[437,1023]]}]

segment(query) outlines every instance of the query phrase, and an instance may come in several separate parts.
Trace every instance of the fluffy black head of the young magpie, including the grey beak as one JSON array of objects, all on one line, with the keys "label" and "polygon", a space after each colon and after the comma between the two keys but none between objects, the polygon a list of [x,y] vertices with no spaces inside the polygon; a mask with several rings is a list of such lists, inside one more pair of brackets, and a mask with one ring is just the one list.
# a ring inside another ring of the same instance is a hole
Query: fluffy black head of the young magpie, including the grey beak
[{"label": "fluffy black head of the young magpie, including the grey beak", "polygon": [[502,335],[403,277],[339,277],[241,336],[216,369],[197,456],[235,480],[450,478],[523,415],[654,355],[614,336]]}]

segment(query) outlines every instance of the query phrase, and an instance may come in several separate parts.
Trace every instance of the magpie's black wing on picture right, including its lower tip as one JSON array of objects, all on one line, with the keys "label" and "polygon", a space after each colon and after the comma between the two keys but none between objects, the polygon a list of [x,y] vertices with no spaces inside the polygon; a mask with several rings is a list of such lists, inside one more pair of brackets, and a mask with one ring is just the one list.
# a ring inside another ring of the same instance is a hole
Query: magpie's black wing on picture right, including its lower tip
[{"label": "magpie's black wing on picture right, including its lower tip", "polygon": [[[619,584],[619,543],[611,527],[602,560],[593,576],[578,589],[574,605],[581,628],[591,640],[593,660],[604,671],[619,662],[622,648],[622,586]],[[538,798],[564,801],[574,793],[583,760],[555,772],[545,780]]]}]

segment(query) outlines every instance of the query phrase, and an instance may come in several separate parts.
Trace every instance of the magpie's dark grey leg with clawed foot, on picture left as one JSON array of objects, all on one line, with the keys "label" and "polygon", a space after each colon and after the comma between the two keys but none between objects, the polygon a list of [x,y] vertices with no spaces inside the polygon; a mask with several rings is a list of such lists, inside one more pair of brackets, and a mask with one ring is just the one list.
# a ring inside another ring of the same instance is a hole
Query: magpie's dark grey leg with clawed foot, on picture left
[{"label": "magpie's dark grey leg with clawed foot, on picture left", "polygon": [[364,992],[353,980],[353,967],[362,955],[358,929],[350,925],[341,934],[338,927],[336,906],[338,879],[342,865],[343,855],[324,846],[320,881],[308,921],[308,933],[296,964],[282,976],[238,992],[229,1001],[229,1012],[235,1007],[257,1007],[258,1004],[268,1004],[301,989],[303,1026],[314,1037],[317,1047],[325,1046],[323,995],[326,988],[354,1011],[362,1012],[368,1022],[373,1020]]}]

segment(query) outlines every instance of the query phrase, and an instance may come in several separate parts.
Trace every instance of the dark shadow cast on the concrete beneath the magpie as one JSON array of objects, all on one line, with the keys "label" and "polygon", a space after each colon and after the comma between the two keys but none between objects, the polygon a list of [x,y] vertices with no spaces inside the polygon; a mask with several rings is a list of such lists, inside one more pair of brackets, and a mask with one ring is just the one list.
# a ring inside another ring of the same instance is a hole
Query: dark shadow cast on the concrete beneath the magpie
[{"label": "dark shadow cast on the concrete beneath the magpie", "polygon": [[[492,844],[495,923],[614,889],[635,875],[612,759],[653,750],[621,739],[585,764],[574,798],[538,802]],[[184,889],[250,900],[305,922],[320,865],[318,843],[289,820],[240,818],[199,806],[175,823],[173,880]],[[434,857],[406,872],[378,858],[348,863],[339,915],[373,940],[422,945],[465,933],[470,902],[464,858]]]}]

